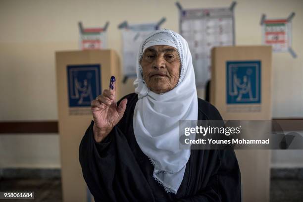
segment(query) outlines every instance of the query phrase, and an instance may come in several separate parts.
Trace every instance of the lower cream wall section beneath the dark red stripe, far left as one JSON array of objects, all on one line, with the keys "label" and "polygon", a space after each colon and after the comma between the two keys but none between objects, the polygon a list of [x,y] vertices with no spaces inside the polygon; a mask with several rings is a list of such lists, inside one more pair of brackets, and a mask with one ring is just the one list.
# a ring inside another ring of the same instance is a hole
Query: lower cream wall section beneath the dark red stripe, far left
[{"label": "lower cream wall section beneath the dark red stripe, far left", "polygon": [[0,167],[59,168],[57,134],[0,135]]}]

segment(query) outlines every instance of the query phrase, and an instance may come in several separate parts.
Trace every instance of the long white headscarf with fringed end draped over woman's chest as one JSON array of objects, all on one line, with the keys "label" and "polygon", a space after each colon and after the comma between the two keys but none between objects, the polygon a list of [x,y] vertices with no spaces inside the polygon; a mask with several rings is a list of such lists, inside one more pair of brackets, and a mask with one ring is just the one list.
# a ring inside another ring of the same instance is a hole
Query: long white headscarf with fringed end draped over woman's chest
[{"label": "long white headscarf with fringed end draped over woman's chest", "polygon": [[[176,87],[156,94],[143,79],[140,60],[146,48],[172,46],[181,58],[181,73]],[[141,150],[154,165],[153,178],[166,192],[176,194],[183,180],[190,150],[179,150],[179,120],[198,119],[198,97],[192,55],[188,43],[178,33],[161,29],[143,40],[137,63],[135,92],[139,100],[134,111],[134,133]]]}]

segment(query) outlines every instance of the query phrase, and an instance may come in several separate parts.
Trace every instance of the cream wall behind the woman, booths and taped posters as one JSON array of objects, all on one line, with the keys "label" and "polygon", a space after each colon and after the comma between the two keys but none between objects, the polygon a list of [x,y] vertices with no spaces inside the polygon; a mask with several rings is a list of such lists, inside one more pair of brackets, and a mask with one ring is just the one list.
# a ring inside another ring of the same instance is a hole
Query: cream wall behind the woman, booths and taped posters
[{"label": "cream wall behind the woman, booths and taped posters", "polygon": [[[184,8],[229,6],[231,0],[180,0]],[[260,16],[293,19],[293,49],[273,54],[273,117],[303,117],[303,1],[238,0],[236,45],[260,45]],[[77,50],[78,21],[103,26],[108,20],[108,46],[121,56],[119,23],[156,22],[178,31],[175,0],[1,0],[0,121],[56,120],[55,58],[58,50]],[[132,80],[123,87],[133,91]],[[203,97],[203,91],[199,93]],[[60,167],[55,135],[0,135],[0,167]],[[16,143],[20,143],[16,147]],[[30,149],[28,149],[30,148]],[[301,156],[289,158],[291,156]],[[273,162],[303,162],[302,151],[273,151]]]}]

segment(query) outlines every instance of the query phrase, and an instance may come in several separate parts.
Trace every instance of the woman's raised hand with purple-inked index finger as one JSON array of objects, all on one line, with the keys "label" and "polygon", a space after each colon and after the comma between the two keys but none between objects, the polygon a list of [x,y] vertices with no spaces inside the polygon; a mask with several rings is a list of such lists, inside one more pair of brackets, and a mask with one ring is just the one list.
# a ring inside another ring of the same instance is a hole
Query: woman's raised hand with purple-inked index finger
[{"label": "woman's raised hand with purple-inked index finger", "polygon": [[127,99],[123,99],[119,106],[116,103],[115,77],[110,78],[109,89],[105,89],[102,95],[91,103],[94,118],[94,138],[100,143],[123,117]]}]

